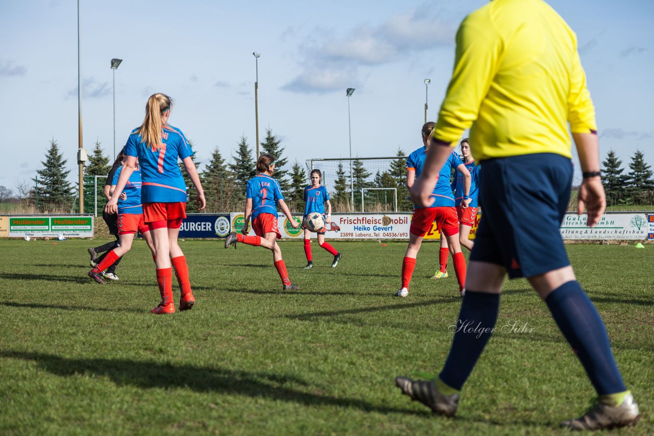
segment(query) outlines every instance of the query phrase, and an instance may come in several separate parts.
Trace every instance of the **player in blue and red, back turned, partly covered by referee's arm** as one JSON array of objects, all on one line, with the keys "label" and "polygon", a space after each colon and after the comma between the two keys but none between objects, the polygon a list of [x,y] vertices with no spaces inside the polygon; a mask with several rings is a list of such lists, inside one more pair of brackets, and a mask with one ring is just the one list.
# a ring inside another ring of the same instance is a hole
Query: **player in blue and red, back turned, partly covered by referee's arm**
[{"label": "player in blue and red, back turned, partly covered by referee's arm", "polygon": [[[422,126],[422,143],[424,146],[409,154],[409,158],[407,158],[407,186],[409,188],[413,186],[415,178],[422,173],[424,158],[429,149],[428,140],[432,135],[435,125],[433,122],[428,122]],[[404,260],[402,260],[402,287],[395,293],[396,297],[406,297],[409,295],[409,283],[411,283],[413,269],[415,269],[415,258],[420,250],[422,238],[432,227],[433,222],[438,224],[439,231],[447,237],[452,258],[454,259],[458,292],[460,295],[464,294],[463,286],[466,282],[466,259],[458,244],[458,220],[456,220],[456,210],[454,208],[454,195],[452,195],[452,189],[449,183],[453,168],[463,175],[464,189],[466,191],[470,190],[470,173],[468,173],[461,159],[452,152],[451,156],[447,159],[447,164],[444,165],[438,176],[438,182],[431,194],[430,205],[427,207],[415,205],[415,209],[413,210],[411,227],[409,227],[409,246],[407,246]],[[467,199],[463,202],[466,207],[468,203],[470,201]]]}]

